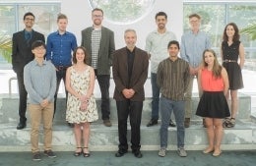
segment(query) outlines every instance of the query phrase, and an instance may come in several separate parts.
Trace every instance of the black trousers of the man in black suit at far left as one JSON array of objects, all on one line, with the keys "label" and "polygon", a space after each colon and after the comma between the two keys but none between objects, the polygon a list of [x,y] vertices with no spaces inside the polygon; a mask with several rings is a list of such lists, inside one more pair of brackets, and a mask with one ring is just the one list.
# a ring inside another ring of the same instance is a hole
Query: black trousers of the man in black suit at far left
[{"label": "black trousers of the man in black suit at far left", "polygon": [[27,96],[28,92],[24,85],[24,73],[17,73],[17,81],[19,86],[19,116],[20,122],[26,123],[26,110],[27,110]]}]

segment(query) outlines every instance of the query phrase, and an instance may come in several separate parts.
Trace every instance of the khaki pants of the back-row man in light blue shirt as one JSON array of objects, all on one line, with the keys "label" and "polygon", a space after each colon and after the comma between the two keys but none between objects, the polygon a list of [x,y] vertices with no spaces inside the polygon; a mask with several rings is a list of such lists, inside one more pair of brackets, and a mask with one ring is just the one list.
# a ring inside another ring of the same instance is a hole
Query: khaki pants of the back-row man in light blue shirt
[{"label": "khaki pants of the back-row man in light blue shirt", "polygon": [[[190,75],[190,80],[189,80],[188,88],[185,95],[185,118],[191,118],[191,115],[192,115],[192,90],[193,90],[194,79],[195,79],[195,76]],[[196,77],[196,79],[198,83],[198,77]],[[201,97],[203,92],[199,89],[200,88],[198,87],[199,97]]]}]

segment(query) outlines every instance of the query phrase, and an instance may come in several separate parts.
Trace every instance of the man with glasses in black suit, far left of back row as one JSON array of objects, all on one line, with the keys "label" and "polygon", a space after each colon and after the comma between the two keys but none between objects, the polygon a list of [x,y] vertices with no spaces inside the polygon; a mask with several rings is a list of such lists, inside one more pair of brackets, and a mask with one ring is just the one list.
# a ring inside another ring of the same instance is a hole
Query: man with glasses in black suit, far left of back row
[{"label": "man with glasses in black suit, far left of back row", "polygon": [[32,42],[35,40],[42,40],[45,42],[44,35],[32,29],[34,24],[34,15],[31,12],[24,15],[24,24],[25,29],[13,34],[12,48],[12,64],[13,70],[17,74],[20,96],[20,123],[17,126],[18,130],[22,130],[27,126],[26,110],[28,92],[24,85],[24,67],[33,60]]}]

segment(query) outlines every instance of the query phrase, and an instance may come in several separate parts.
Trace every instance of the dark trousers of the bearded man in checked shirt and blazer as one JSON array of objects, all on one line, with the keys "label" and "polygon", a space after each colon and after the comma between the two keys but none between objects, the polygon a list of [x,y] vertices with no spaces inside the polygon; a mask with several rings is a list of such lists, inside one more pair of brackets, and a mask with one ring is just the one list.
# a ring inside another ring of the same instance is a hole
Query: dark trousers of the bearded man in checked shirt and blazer
[{"label": "dark trousers of the bearded man in checked shirt and blazer", "polygon": [[109,86],[110,86],[110,75],[97,75],[96,80],[101,92],[101,119],[109,120],[110,116],[110,104],[109,104]]}]

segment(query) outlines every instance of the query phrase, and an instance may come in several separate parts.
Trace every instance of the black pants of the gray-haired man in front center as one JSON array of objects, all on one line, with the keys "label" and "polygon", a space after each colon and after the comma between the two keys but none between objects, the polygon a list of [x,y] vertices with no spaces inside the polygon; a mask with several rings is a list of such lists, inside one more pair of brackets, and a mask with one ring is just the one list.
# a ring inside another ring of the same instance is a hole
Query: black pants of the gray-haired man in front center
[{"label": "black pants of the gray-haired man in front center", "polygon": [[130,117],[132,150],[138,151],[141,148],[141,119],[143,101],[116,101],[118,116],[119,150],[128,149],[127,143],[127,119]]}]

